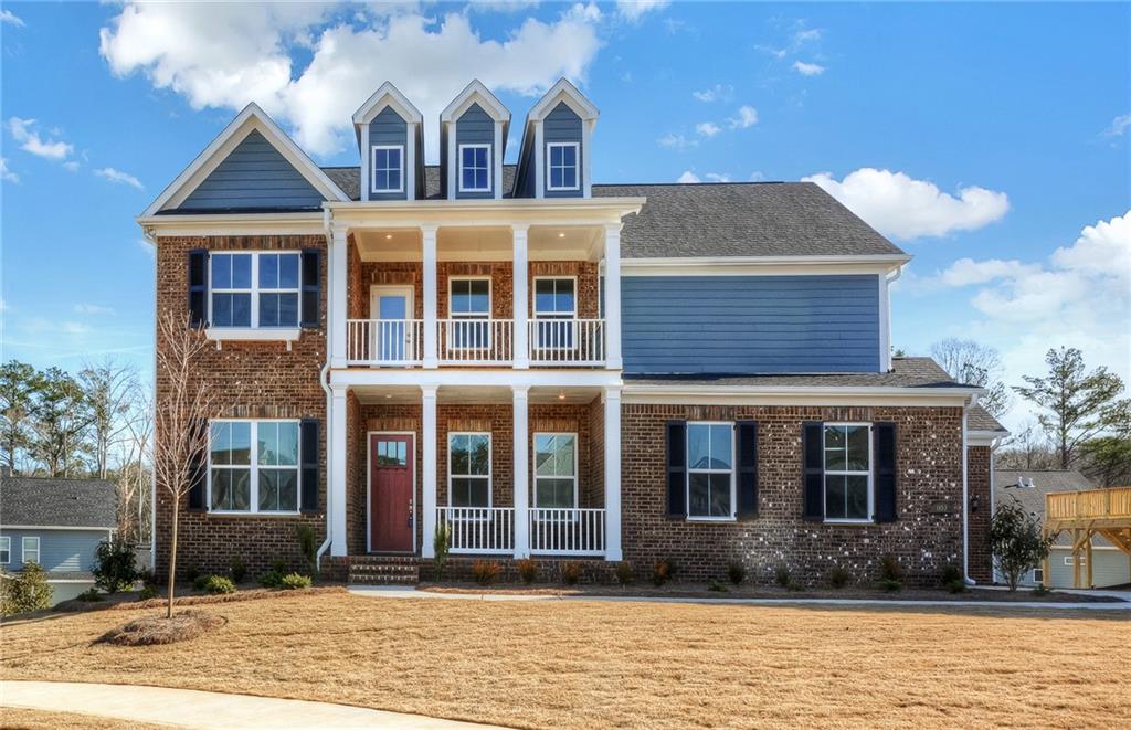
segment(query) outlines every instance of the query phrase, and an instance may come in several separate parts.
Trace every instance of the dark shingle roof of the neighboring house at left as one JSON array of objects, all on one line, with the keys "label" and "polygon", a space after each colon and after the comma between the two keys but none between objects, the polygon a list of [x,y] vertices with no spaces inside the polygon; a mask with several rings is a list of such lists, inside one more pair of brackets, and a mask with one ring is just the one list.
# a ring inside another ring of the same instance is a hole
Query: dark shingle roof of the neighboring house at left
[{"label": "dark shingle roof of the neighboring house at left", "polygon": [[33,524],[116,528],[114,485],[105,479],[0,479],[0,525]]}]

